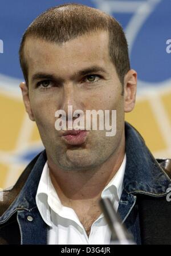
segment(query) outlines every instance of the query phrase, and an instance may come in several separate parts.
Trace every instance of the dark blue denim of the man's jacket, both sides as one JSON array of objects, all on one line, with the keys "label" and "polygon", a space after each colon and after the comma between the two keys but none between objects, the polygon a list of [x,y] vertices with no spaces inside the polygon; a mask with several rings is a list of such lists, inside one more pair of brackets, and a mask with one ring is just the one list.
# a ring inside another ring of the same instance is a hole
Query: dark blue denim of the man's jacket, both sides
[{"label": "dark blue denim of the man's jacket, both sides", "polygon": [[[125,137],[127,164],[118,212],[136,243],[141,244],[137,195],[164,197],[171,180],[154,159],[140,134],[128,123],[125,123]],[[44,151],[35,162],[18,197],[0,217],[1,227],[14,213],[17,213],[21,244],[47,243],[48,227],[42,220],[35,202],[36,190],[46,160]]]}]

